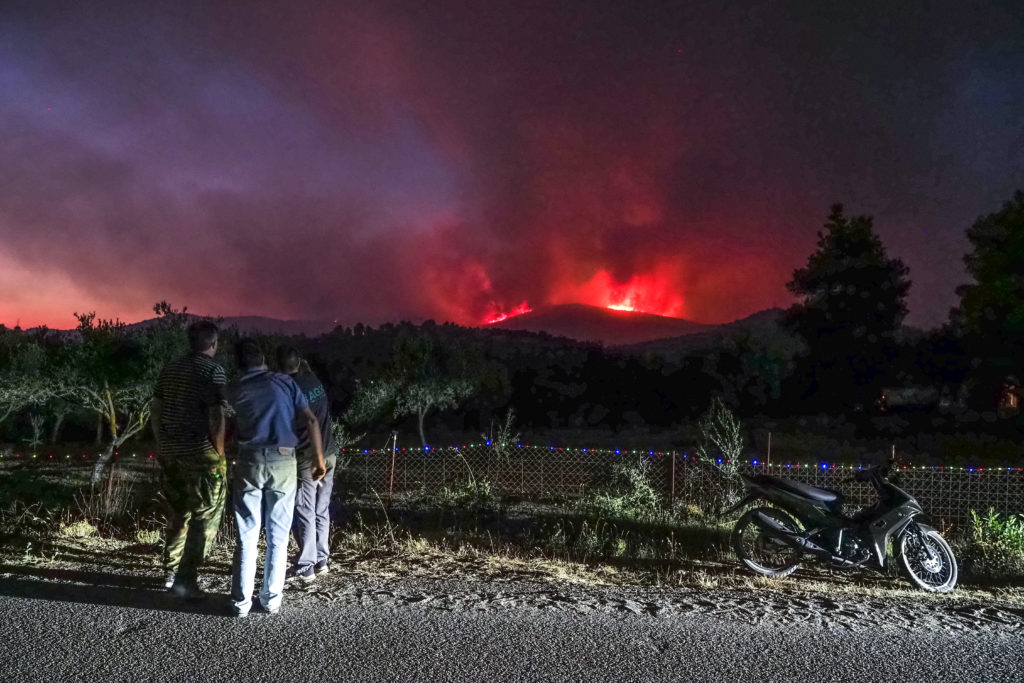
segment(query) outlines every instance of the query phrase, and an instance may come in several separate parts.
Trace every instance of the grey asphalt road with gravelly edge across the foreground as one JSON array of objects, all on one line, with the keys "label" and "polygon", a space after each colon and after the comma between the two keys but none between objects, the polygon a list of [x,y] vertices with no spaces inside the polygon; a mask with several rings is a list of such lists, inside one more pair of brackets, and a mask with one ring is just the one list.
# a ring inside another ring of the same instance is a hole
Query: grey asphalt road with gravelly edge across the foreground
[{"label": "grey asphalt road with gravelly edge across the foreground", "polygon": [[1020,613],[983,605],[401,580],[290,591],[275,616],[224,599],[8,575],[0,680],[1024,680]]}]

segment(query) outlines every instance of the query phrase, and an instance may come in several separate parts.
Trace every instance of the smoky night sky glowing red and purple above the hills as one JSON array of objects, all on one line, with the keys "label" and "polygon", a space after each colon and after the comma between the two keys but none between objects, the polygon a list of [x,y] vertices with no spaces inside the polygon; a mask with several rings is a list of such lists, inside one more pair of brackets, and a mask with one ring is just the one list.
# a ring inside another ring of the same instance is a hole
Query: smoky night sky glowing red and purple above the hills
[{"label": "smoky night sky glowing red and purple above the hills", "polygon": [[828,206],[942,323],[1024,187],[1024,3],[0,2],[0,323],[702,323]]}]

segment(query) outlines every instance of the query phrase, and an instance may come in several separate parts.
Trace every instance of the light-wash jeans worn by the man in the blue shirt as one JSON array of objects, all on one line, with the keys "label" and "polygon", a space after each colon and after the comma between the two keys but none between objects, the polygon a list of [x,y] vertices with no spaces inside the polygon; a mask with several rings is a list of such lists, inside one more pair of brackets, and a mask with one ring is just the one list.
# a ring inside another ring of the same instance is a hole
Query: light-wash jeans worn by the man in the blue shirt
[{"label": "light-wash jeans worn by the man in the blue shirt", "polygon": [[288,568],[288,533],[295,509],[295,450],[261,449],[239,454],[232,504],[238,536],[231,571],[231,605],[238,613],[252,607],[256,585],[259,529],[266,527],[266,557],[260,604],[281,608]]}]

